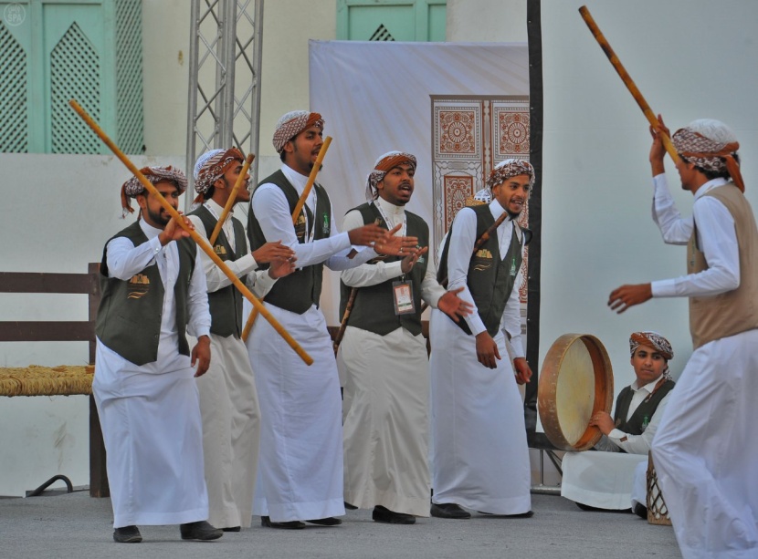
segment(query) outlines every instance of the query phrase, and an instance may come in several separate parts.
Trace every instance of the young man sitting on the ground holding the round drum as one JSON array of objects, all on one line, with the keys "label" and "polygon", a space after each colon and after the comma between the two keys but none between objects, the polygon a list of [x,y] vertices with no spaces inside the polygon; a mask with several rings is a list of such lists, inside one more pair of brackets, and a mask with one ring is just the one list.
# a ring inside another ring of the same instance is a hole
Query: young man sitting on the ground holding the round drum
[{"label": "young man sitting on the ground holding the round drum", "polygon": [[635,381],[618,394],[614,418],[598,411],[590,419],[590,425],[603,433],[595,444],[601,451],[563,456],[561,495],[582,509],[628,510],[631,503],[647,518],[644,492],[640,495],[634,488],[645,479],[647,452],[674,388],[669,377],[674,351],[657,332],[634,332],[629,352]]}]

